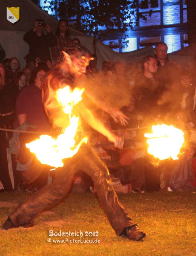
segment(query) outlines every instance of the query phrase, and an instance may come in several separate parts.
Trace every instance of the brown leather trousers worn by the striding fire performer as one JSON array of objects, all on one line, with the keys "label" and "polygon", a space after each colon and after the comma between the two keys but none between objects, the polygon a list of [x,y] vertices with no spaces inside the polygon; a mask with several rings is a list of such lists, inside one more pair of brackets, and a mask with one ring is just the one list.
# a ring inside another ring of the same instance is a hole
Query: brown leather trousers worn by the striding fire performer
[{"label": "brown leather trousers worn by the striding fire performer", "polygon": [[124,228],[135,225],[118,202],[107,167],[91,148],[85,146],[81,146],[79,152],[72,158],[65,159],[64,167],[54,171],[56,178],[52,184],[34,193],[25,203],[19,204],[10,215],[14,225],[24,226],[39,212],[61,201],[68,194],[73,175],[79,169],[92,177],[97,196],[117,236]]}]

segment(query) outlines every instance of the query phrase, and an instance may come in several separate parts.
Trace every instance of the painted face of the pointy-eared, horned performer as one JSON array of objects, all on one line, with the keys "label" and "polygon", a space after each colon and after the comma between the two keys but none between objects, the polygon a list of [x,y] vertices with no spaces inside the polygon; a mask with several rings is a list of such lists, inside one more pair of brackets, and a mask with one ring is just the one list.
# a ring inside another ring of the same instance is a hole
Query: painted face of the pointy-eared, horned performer
[{"label": "painted face of the pointy-eared, horned performer", "polygon": [[87,66],[89,65],[90,57],[89,56],[82,56],[80,58],[74,57],[72,59],[72,65],[71,65],[71,72],[76,77],[86,73]]}]

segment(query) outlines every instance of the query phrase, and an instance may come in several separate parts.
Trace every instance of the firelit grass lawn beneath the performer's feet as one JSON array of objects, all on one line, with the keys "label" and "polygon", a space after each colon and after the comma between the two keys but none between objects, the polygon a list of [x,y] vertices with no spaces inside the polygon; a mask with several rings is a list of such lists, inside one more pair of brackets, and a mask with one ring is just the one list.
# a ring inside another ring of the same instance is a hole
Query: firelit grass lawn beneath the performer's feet
[{"label": "firelit grass lawn beneath the performer's feet", "polygon": [[[0,201],[20,203],[26,193],[0,193]],[[64,203],[35,219],[33,228],[0,229],[2,256],[62,255],[175,255],[196,256],[196,194],[145,193],[119,195],[138,227],[147,233],[143,242],[117,237],[94,194],[73,194]],[[0,208],[0,223],[15,207]],[[81,241],[99,239],[100,243],[54,243],[54,240],[79,237],[51,237],[54,232],[83,232]],[[89,233],[85,236],[85,231]],[[98,236],[91,236],[98,235]]]}]

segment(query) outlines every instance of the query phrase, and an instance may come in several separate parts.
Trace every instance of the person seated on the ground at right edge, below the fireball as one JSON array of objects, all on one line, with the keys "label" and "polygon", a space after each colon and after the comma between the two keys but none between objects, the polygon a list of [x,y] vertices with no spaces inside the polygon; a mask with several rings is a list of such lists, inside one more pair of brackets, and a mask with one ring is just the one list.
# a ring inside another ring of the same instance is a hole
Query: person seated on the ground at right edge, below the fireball
[{"label": "person seated on the ground at right edge, below the fireball", "polygon": [[189,143],[185,150],[185,156],[181,156],[177,161],[170,180],[170,188],[173,191],[192,191],[196,188],[192,185],[194,181],[192,169],[192,157],[195,153],[195,145]]}]

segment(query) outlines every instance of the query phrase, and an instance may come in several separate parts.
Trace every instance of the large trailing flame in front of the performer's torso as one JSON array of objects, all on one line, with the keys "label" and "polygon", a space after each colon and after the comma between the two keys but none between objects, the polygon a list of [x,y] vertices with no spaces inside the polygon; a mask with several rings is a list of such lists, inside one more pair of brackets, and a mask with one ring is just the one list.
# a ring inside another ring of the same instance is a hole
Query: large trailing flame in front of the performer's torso
[{"label": "large trailing flame in front of the performer's torso", "polygon": [[62,160],[74,156],[82,143],[87,143],[87,138],[83,138],[78,145],[75,145],[74,137],[78,128],[79,117],[72,116],[72,108],[80,100],[84,89],[75,88],[72,92],[66,86],[57,91],[57,100],[61,104],[64,112],[69,115],[70,125],[60,134],[57,139],[49,135],[41,135],[38,140],[26,144],[32,153],[35,153],[42,164],[53,167],[63,167]]}]

